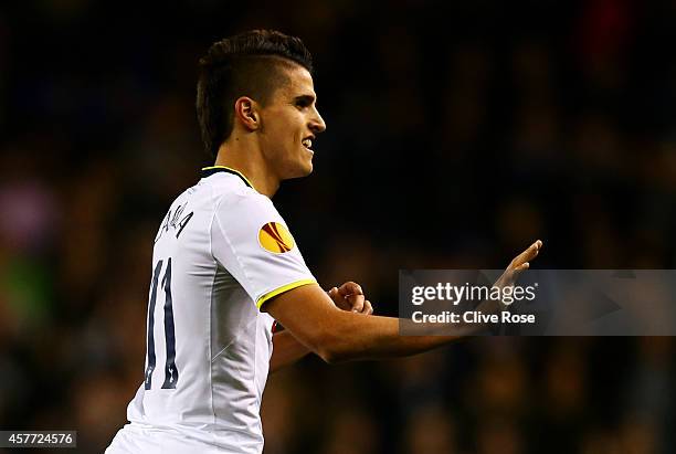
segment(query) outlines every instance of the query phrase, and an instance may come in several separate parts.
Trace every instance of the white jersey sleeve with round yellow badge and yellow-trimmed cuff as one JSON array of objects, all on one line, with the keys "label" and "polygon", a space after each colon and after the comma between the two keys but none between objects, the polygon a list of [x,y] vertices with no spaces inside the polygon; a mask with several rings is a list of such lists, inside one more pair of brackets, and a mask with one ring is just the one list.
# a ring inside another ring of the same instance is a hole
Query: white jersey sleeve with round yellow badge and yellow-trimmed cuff
[{"label": "white jersey sleeve with round yellow badge and yellow-trimmed cuff", "polygon": [[262,194],[220,201],[211,224],[211,252],[258,308],[274,296],[317,282],[286,223]]}]

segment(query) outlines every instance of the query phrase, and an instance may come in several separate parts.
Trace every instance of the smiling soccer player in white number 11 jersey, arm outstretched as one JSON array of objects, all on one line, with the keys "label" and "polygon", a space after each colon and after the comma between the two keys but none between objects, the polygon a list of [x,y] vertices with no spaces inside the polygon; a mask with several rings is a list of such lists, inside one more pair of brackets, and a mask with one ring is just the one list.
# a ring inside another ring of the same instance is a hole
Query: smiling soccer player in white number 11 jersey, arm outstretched
[{"label": "smiling soccer player in white number 11 jersey, arm outstretched", "polygon": [[[456,336],[399,335],[361,288],[327,294],[271,198],[313,171],[311,57],[297,38],[251,31],[200,60],[197,109],[215,165],[171,204],[155,239],[144,383],[106,451],[261,453],[268,370],[308,351],[327,362],[413,355]],[[515,258],[509,285],[541,242]],[[273,335],[275,320],[286,329]],[[273,348],[274,345],[274,348]]]}]

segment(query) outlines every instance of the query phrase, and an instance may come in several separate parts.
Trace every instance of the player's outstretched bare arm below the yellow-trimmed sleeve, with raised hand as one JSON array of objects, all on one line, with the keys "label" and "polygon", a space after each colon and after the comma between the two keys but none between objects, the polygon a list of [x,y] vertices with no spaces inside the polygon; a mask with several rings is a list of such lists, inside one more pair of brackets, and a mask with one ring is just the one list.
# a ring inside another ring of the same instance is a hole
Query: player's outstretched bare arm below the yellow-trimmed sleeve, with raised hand
[{"label": "player's outstretched bare arm below the yellow-trimmed sleeve, with raised hand", "polygon": [[[537,241],[511,261],[499,285],[513,285],[541,245]],[[294,288],[268,300],[264,308],[327,362],[415,355],[473,334],[474,329],[458,327],[457,336],[400,336],[398,318],[363,317],[340,310],[318,285]]]}]

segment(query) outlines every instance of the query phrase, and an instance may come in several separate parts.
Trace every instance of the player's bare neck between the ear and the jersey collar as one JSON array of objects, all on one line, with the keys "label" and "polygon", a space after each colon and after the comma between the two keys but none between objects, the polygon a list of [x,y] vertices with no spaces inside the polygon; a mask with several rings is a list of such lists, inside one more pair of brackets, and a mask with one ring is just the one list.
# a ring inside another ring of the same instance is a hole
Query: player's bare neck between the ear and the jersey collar
[{"label": "player's bare neck between the ear and the jersey collar", "polygon": [[251,181],[256,191],[271,199],[279,189],[279,179],[267,168],[260,148],[244,146],[236,138],[221,144],[214,166],[237,170]]}]

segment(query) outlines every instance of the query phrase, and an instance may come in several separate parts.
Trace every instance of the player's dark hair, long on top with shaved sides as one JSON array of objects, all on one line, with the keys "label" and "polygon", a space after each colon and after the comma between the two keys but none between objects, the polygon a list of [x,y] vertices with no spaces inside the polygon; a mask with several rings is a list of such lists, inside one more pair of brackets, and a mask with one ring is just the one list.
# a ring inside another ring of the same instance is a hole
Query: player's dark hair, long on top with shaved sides
[{"label": "player's dark hair, long on top with shaved sides", "polygon": [[234,102],[250,96],[263,106],[286,82],[284,70],[299,64],[313,72],[313,57],[299,38],[252,30],[216,41],[200,59],[197,114],[207,152],[216,156],[232,134]]}]

